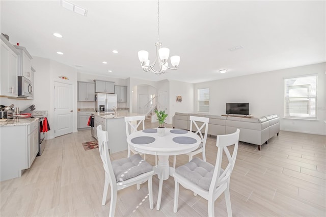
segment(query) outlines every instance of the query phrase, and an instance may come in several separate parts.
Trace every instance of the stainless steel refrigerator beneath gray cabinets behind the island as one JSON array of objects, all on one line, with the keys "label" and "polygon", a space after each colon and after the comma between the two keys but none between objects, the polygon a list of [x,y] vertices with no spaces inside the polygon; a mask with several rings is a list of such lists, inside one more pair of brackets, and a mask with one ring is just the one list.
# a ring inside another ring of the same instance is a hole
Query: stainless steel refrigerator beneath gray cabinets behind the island
[{"label": "stainless steel refrigerator beneath gray cabinets behind the island", "polygon": [[95,93],[95,108],[97,112],[114,112],[117,107],[117,94]]}]

